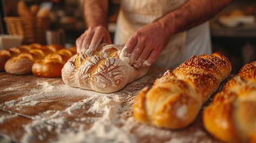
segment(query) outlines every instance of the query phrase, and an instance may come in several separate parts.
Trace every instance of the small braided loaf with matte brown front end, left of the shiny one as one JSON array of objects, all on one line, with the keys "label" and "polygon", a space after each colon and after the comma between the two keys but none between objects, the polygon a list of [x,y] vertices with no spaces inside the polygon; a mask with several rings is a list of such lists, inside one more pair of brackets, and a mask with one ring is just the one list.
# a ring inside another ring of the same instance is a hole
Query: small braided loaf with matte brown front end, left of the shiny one
[{"label": "small braided loaf with matte brown front end, left of the shiny one", "polygon": [[[6,72],[11,74],[27,74],[31,73],[31,67],[36,60],[43,59],[45,56],[50,53],[54,53],[57,50],[62,49],[62,46],[59,45],[39,45],[39,44],[30,44],[20,48],[13,48],[10,51],[15,51],[18,53],[18,56],[8,59],[5,63],[4,69]],[[25,50],[27,51],[25,51]],[[20,51],[20,52],[17,52]]]}]

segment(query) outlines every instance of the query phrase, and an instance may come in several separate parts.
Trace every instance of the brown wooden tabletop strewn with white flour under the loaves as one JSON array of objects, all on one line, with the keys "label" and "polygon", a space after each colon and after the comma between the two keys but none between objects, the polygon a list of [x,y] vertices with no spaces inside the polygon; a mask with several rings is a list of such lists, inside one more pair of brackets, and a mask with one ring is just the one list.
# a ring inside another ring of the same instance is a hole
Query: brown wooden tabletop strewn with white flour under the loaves
[{"label": "brown wooden tabletop strewn with white flour under the loaves", "polygon": [[0,73],[0,134],[16,142],[218,142],[201,113],[182,130],[142,125],[132,117],[134,97],[164,70],[103,94],[65,85],[61,78]]}]

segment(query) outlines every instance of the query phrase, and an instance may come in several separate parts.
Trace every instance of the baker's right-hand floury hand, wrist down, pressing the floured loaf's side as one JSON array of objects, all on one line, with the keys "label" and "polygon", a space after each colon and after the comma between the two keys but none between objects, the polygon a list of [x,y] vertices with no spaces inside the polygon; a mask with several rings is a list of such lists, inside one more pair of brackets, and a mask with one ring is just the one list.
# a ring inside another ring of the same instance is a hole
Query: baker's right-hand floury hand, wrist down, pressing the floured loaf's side
[{"label": "baker's right-hand floury hand, wrist down, pressing the floured loaf's side", "polygon": [[162,24],[154,22],[137,30],[128,40],[120,58],[135,68],[152,65],[168,43]]}]

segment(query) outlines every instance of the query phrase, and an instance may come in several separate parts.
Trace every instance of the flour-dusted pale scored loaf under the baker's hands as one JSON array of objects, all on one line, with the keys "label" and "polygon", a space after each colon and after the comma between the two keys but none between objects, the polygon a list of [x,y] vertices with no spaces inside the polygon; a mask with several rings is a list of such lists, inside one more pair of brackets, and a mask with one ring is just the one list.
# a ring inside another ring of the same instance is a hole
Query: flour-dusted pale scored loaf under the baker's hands
[{"label": "flour-dusted pale scored loaf under the baker's hands", "polygon": [[119,56],[122,46],[106,45],[98,51],[86,50],[71,57],[62,69],[65,84],[111,93],[120,90],[126,84],[144,76],[148,67],[134,69]]}]

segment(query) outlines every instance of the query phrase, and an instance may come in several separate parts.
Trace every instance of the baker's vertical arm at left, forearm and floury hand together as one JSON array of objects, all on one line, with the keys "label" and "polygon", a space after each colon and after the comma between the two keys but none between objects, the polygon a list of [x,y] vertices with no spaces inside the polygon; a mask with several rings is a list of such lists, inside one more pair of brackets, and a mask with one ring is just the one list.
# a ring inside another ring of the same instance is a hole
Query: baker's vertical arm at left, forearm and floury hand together
[{"label": "baker's vertical arm at left, forearm and floury hand together", "polygon": [[76,39],[77,52],[90,49],[87,51],[92,53],[101,42],[111,43],[107,30],[108,0],[84,0],[83,6],[88,29]]}]

